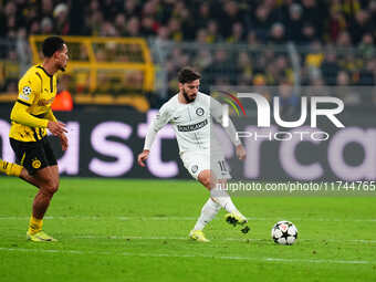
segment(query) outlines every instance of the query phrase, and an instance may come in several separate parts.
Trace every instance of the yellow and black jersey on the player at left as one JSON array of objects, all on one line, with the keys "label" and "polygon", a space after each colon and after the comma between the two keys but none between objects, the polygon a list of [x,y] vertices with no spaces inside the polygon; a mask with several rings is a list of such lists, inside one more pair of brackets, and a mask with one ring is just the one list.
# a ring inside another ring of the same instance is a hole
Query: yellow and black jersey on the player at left
[{"label": "yellow and black jersey on the player at left", "polygon": [[19,82],[19,96],[12,108],[9,137],[20,142],[38,142],[46,135],[49,121],[56,121],[51,105],[56,95],[56,74],[34,65]]}]

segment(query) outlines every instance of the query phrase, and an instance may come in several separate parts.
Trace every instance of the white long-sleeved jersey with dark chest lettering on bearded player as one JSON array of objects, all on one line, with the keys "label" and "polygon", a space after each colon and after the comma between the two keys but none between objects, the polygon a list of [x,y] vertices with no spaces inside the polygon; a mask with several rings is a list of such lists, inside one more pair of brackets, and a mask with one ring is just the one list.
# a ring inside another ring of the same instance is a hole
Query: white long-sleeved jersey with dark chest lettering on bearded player
[{"label": "white long-sleeved jersey with dark chest lettering on bearded player", "polygon": [[[215,98],[198,92],[194,102],[182,104],[178,94],[166,102],[159,109],[145,139],[144,149],[150,149],[155,134],[166,124],[173,125],[180,155],[186,152],[219,152],[220,143],[212,129],[212,118],[221,123],[222,107]],[[234,138],[232,123],[226,128],[234,145],[240,142]]]}]

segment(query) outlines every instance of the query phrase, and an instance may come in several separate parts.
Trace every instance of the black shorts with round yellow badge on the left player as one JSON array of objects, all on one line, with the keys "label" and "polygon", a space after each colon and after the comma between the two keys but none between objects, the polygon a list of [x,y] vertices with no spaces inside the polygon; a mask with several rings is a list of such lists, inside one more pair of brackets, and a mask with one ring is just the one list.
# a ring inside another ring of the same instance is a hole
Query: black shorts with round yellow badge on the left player
[{"label": "black shorts with round yellow badge on the left player", "polygon": [[15,154],[15,163],[23,166],[30,175],[34,175],[39,169],[58,165],[46,137],[38,142],[9,139]]}]

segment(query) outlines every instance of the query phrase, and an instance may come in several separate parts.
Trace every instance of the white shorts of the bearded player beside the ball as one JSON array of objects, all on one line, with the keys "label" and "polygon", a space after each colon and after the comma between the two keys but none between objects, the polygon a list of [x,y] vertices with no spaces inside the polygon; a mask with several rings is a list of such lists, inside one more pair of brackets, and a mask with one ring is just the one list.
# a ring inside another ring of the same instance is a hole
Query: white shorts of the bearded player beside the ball
[{"label": "white shorts of the bearded player beside the ball", "polygon": [[209,152],[186,152],[181,154],[181,160],[189,174],[197,180],[198,175],[210,169],[217,179],[230,179],[230,168],[222,154],[210,154]]}]

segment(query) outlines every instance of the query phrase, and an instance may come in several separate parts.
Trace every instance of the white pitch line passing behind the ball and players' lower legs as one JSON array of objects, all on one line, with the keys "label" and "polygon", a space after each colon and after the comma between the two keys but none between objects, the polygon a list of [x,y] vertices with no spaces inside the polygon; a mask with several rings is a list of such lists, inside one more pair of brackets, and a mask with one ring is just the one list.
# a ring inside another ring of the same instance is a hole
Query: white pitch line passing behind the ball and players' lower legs
[{"label": "white pitch line passing behind the ball and players' lower legs", "polygon": [[[29,220],[30,217],[9,217],[0,216],[0,220]],[[93,217],[93,216],[76,216],[76,217],[63,217],[52,216],[44,217],[44,219],[58,219],[58,220],[143,220],[143,221],[191,221],[197,220],[197,217]],[[249,221],[275,221],[276,218],[248,218]],[[376,219],[330,219],[330,218],[289,218],[290,221],[326,221],[326,222],[376,222]]]}]

